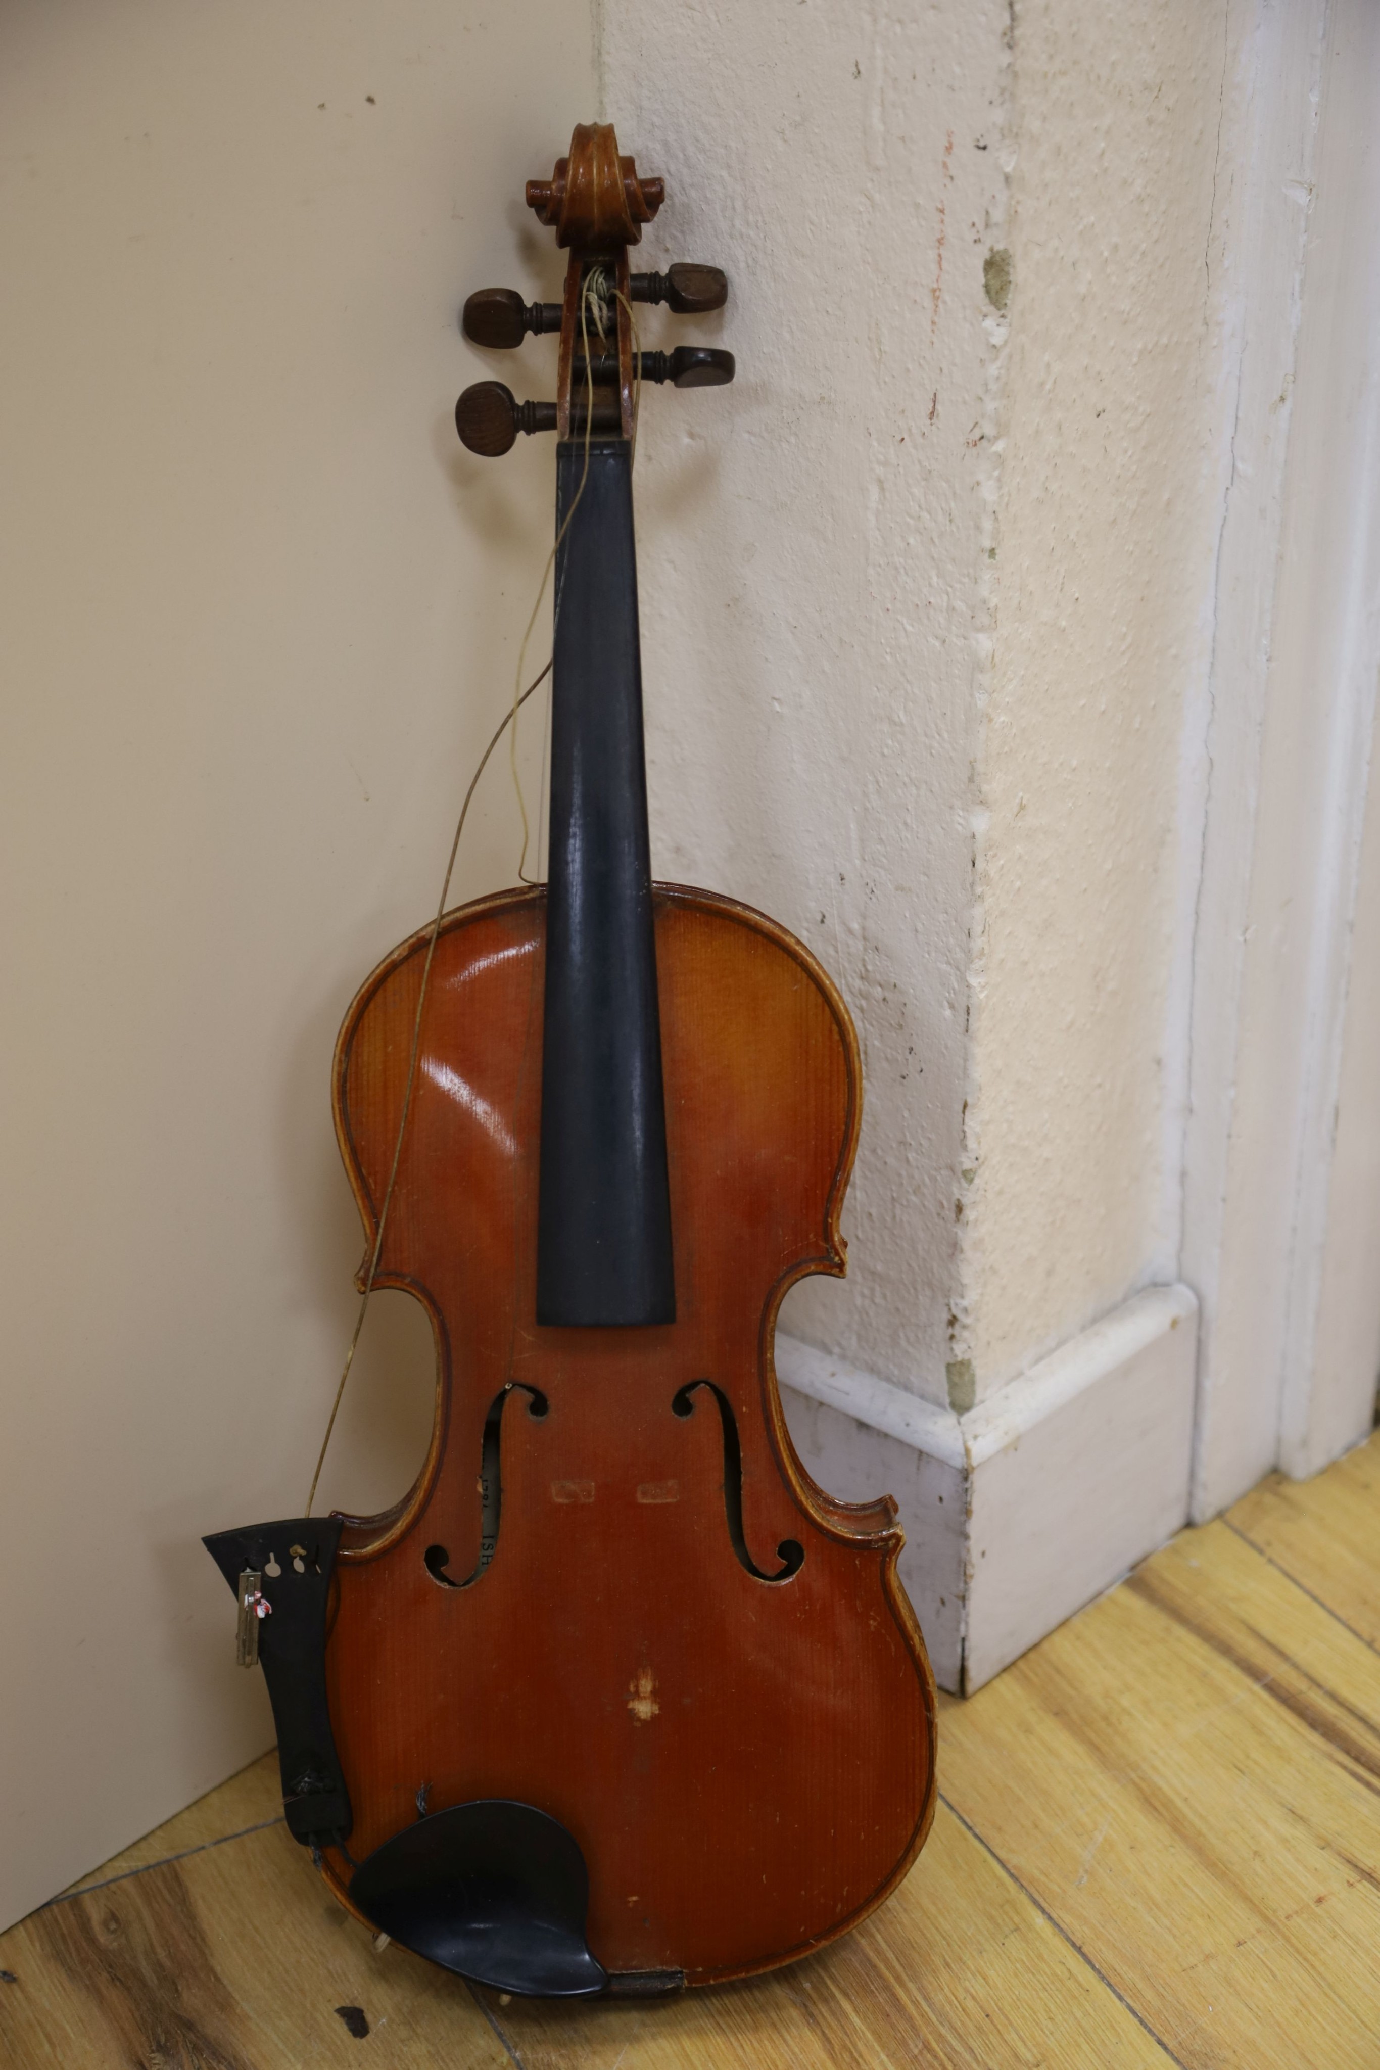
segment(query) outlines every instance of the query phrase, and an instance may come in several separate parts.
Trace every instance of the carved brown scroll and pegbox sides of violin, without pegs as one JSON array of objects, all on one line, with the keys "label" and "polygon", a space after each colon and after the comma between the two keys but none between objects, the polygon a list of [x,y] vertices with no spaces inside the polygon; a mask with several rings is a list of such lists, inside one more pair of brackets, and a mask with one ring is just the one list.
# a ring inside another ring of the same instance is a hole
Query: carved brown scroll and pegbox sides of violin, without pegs
[{"label": "carved brown scroll and pegbox sides of violin, without pegs", "polygon": [[561,321],[561,362],[557,377],[557,437],[571,435],[571,368],[579,337],[579,296],[583,271],[602,261],[619,290],[619,416],[623,437],[633,435],[633,333],[627,317],[627,246],[641,242],[666,190],[660,180],[639,180],[631,157],[619,155],[612,122],[579,122],[569,157],[557,159],[550,180],[528,180],[528,207],[538,221],[569,246],[565,308]]}]

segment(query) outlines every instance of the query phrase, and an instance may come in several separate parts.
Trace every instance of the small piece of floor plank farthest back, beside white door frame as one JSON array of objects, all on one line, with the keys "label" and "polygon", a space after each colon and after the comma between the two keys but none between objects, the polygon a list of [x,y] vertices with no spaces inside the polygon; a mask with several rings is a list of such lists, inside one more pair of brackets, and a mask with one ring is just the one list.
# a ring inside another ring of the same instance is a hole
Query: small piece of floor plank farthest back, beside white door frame
[{"label": "small piece of floor plank farthest back, beside white door frame", "polygon": [[1227,1521],[1380,1646],[1380,1435],[1314,1480],[1270,1474],[1227,1511]]}]

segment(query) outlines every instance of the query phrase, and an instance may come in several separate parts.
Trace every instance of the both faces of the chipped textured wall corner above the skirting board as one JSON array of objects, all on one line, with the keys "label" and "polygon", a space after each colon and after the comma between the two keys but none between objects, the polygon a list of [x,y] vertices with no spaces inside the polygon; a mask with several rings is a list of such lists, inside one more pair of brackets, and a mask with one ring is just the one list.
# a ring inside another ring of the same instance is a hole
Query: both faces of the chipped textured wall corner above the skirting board
[{"label": "both faces of the chipped textured wall corner above the skirting board", "polygon": [[850,1277],[784,1327],[958,1410],[1175,1277],[1225,19],[600,8],[741,366],[639,457],[660,863],[863,1035]]}]

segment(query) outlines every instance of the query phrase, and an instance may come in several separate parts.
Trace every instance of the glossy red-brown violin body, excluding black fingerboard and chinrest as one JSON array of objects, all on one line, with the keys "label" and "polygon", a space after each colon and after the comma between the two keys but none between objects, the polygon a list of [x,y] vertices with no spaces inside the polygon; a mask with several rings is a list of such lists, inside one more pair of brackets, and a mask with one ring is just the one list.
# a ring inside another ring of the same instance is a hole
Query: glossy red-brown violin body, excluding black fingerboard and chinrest
[{"label": "glossy red-brown violin body, excluding black fingerboard and chinrest", "polygon": [[[341,1538],[327,1687],[350,1851],[416,1820],[422,1782],[428,1811],[540,1805],[581,1846],[608,1973],[710,1983],[861,1919],[933,1813],[933,1683],[894,1505],[809,1480],[772,1370],[786,1288],[844,1269],[859,1052],[803,944],[660,886],[677,1321],[538,1329],[544,905],[540,890],[480,900],[437,944],[379,1275],[430,1312],[437,1426],[408,1501]],[[337,1130],[370,1240],[424,950],[418,936],[368,979],[339,1037]],[[677,1414],[695,1381],[712,1387]],[[509,1383],[480,1567],[484,1424]],[[759,1573],[734,1548],[712,1389]],[[786,1542],[797,1571],[761,1579]],[[470,1586],[434,1577],[437,1544]],[[325,1861],[346,1896],[348,1863]]]}]

